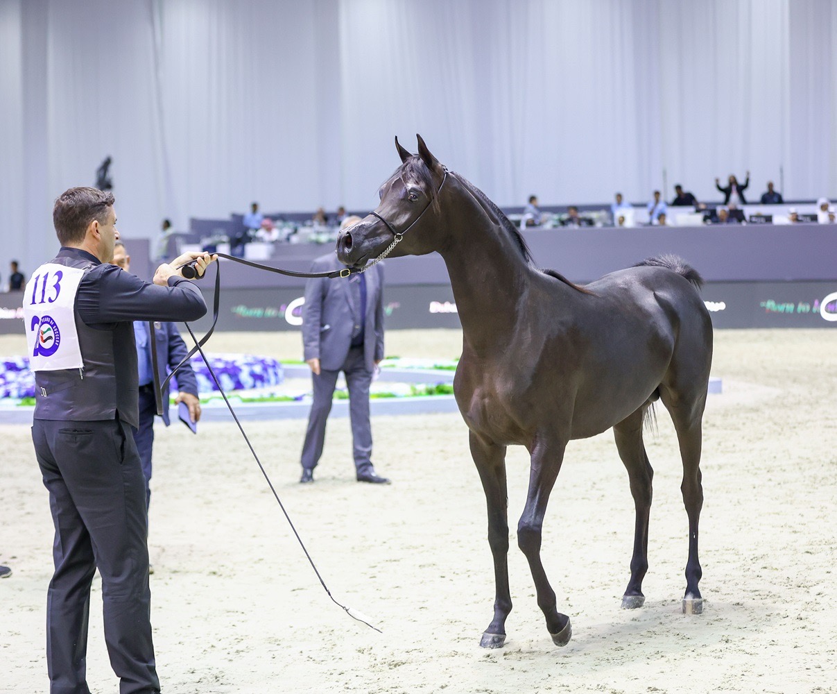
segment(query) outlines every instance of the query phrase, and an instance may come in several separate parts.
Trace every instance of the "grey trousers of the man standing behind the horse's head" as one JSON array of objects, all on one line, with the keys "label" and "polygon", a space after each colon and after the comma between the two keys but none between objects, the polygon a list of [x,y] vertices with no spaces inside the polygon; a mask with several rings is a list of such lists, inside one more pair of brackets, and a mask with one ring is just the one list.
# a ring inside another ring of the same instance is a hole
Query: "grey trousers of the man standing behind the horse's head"
[{"label": "grey trousers of the man standing behind the horse's head", "polygon": [[346,374],[349,390],[349,418],[352,423],[352,453],[357,474],[372,470],[372,425],[369,424],[369,385],[372,372],[367,371],[363,359],[363,347],[352,347],[346,362],[337,371],[321,370],[311,374],[314,384],[314,402],[308,415],[306,440],[302,445],[302,467],[313,470],[322,455],[326,440],[326,420],[331,412],[331,398],[340,372]]}]

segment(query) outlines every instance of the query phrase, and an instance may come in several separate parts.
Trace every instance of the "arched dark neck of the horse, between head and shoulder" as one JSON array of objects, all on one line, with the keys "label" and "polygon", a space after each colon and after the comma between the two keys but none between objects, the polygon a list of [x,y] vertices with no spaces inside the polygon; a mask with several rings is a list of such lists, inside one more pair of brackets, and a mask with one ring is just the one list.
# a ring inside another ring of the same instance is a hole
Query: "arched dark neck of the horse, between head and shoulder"
[{"label": "arched dark neck of the horse, between head and shoulder", "polygon": [[[464,188],[464,187],[463,187]],[[466,188],[449,218],[451,241],[439,251],[448,268],[465,341],[478,348],[507,344],[533,268],[485,203]]]}]

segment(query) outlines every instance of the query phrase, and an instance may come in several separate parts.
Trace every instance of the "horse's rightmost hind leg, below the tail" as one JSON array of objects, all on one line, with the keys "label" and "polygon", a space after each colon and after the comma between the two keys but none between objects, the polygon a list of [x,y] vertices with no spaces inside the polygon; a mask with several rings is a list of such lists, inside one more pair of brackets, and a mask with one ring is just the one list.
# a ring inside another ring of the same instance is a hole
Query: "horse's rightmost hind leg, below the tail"
[{"label": "horse's rightmost hind leg, below the tail", "polygon": [[701,563],[697,556],[698,523],[703,507],[701,485],[701,418],[706,405],[706,393],[696,398],[678,398],[672,391],[661,388],[660,398],[669,410],[677,431],[680,457],[683,459],[683,505],[689,517],[689,559],[686,562],[686,594],[683,597],[684,614],[700,614],[703,599],[697,584],[701,580]]}]

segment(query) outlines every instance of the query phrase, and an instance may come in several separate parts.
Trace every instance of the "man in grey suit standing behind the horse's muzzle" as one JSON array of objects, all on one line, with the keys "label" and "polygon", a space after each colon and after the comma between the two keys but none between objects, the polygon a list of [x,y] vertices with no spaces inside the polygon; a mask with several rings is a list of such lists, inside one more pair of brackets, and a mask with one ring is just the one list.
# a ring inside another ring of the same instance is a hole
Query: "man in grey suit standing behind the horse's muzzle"
[{"label": "man in grey suit standing behind the horse's muzzle", "polygon": [[[361,221],[349,217],[341,224],[347,229]],[[333,253],[317,258],[311,272],[340,270]],[[369,424],[369,385],[377,363],[383,359],[383,269],[374,265],[367,272],[348,280],[323,277],[306,282],[306,302],[302,306],[302,342],[305,360],[311,367],[314,402],[308,418],[306,441],[302,446],[302,477],[314,481],[314,468],[322,455],[326,439],[326,419],[337,376],[346,375],[349,389],[349,416],[357,481],[389,484],[372,467],[372,427]]]}]

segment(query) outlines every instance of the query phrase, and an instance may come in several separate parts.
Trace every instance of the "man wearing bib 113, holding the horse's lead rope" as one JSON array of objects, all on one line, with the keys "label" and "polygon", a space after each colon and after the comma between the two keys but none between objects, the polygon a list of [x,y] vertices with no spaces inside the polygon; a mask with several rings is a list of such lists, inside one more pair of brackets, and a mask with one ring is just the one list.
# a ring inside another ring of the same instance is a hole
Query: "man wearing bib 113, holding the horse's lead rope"
[{"label": "man wearing bib 113, holding the horse's lead rope", "polygon": [[187,253],[153,284],[110,265],[112,193],[70,188],[55,201],[58,255],[35,270],[23,312],[36,398],[35,455],[55,526],[47,599],[51,694],[89,694],[90,583],[102,579],[105,642],[121,694],[160,691],[151,641],[146,491],[130,427],[137,422],[133,321],[195,321],[207,307],[180,265],[198,275],[215,258]]}]

